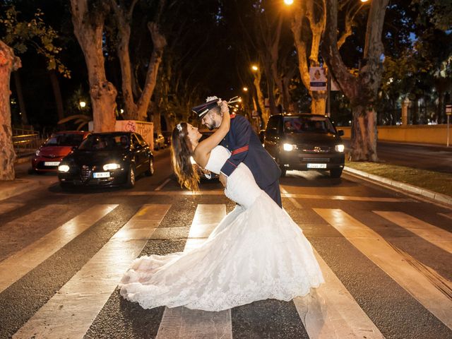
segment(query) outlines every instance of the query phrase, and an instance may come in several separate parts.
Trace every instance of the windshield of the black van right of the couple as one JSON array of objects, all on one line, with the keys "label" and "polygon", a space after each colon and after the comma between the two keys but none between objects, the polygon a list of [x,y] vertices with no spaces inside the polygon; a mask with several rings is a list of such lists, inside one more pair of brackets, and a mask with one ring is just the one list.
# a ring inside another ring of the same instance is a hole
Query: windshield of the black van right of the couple
[{"label": "windshield of the black van right of the couple", "polygon": [[290,133],[335,133],[331,121],[326,117],[284,117],[284,131]]}]

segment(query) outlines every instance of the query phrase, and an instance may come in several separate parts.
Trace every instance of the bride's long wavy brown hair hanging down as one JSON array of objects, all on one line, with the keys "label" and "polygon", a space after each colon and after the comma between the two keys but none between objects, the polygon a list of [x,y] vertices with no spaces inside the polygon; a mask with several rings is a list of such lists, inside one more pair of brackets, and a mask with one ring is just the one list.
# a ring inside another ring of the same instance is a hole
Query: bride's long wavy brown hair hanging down
[{"label": "bride's long wavy brown hair hanging down", "polygon": [[179,179],[181,187],[191,191],[199,191],[199,175],[191,164],[191,143],[187,131],[186,122],[181,122],[174,127],[171,136],[171,159],[174,173]]}]

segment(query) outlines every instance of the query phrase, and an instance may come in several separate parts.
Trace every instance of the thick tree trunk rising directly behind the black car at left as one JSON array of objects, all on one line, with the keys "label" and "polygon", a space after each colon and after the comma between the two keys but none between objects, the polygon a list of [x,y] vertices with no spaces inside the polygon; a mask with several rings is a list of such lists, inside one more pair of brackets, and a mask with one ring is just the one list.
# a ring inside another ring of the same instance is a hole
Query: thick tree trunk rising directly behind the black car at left
[{"label": "thick tree trunk rising directly behind the black car at left", "polygon": [[88,68],[94,131],[114,131],[117,90],[107,81],[105,59],[102,54],[102,34],[108,8],[105,6],[91,8],[88,2],[71,0],[74,34]]}]

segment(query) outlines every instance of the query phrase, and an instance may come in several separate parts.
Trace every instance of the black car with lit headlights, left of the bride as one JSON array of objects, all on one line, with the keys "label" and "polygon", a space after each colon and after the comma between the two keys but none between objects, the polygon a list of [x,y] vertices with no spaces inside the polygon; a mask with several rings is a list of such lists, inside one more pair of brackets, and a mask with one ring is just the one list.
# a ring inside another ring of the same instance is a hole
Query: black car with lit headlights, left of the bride
[{"label": "black car with lit headlights, left of the bride", "polygon": [[138,133],[92,133],[58,167],[61,186],[135,186],[136,177],[154,174],[149,145]]}]

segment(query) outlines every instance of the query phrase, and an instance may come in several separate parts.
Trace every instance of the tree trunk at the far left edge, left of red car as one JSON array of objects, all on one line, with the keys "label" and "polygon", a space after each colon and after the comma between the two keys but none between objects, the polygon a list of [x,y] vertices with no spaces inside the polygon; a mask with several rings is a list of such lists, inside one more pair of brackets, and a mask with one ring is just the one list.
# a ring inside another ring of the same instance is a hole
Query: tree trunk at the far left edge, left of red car
[{"label": "tree trunk at the far left edge, left of red car", "polygon": [[20,59],[13,49],[0,40],[0,180],[14,180],[16,152],[11,130],[11,72],[20,68]]}]

